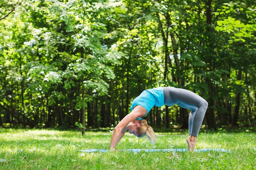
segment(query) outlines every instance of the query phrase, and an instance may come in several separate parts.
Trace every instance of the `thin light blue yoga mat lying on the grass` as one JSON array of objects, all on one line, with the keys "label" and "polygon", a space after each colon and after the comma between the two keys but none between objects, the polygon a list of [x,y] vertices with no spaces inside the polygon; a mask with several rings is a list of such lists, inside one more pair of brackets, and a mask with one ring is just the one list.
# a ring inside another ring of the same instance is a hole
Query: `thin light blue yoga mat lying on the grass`
[{"label": "thin light blue yoga mat lying on the grass", "polygon": [[[120,149],[119,151],[128,151],[128,152],[141,152],[144,150],[145,152],[186,152],[187,149]],[[85,149],[85,150],[77,150],[79,152],[109,152],[109,150],[104,149]],[[217,151],[217,152],[230,152],[225,149],[195,149],[194,152],[209,152],[209,151]]]}]

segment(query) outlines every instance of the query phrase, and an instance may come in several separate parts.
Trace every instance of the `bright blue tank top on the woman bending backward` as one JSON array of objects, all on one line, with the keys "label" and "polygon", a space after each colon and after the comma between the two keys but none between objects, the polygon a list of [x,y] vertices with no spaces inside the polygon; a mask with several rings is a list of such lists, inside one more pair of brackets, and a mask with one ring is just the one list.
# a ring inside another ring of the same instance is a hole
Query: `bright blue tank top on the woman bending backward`
[{"label": "bright blue tank top on the woman bending backward", "polygon": [[[148,112],[153,108],[153,106],[161,107],[164,106],[164,91],[162,87],[151,88],[144,90],[138,97],[136,97],[132,101],[132,106],[130,110],[132,111],[135,106],[142,106]],[[146,116],[144,115],[144,117]],[[136,118],[137,120],[141,120],[144,117]]]}]

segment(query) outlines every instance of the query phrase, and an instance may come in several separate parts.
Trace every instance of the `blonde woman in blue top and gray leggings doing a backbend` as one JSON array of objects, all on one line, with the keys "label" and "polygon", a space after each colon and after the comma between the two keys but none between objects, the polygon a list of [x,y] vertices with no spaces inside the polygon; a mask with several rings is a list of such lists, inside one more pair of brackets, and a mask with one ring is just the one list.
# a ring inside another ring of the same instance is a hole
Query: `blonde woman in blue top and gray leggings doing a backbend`
[{"label": "blonde woman in blue top and gray leggings doing a backbend", "polygon": [[126,115],[115,127],[110,149],[115,150],[120,139],[128,130],[137,137],[146,137],[152,144],[155,143],[155,133],[143,119],[153,106],[173,106],[175,104],[182,108],[190,109],[189,113],[189,137],[186,139],[189,151],[193,152],[202,125],[208,103],[199,95],[175,87],[158,87],[143,91],[132,101],[131,113]]}]

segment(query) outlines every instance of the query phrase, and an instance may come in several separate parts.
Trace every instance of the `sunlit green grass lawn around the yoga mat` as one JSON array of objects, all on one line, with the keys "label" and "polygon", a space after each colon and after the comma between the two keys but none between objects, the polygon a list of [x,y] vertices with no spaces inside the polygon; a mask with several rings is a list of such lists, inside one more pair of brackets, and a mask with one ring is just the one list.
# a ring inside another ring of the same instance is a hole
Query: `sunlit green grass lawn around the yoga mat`
[{"label": "sunlit green grass lawn around the yoga mat", "polygon": [[[201,132],[196,149],[227,152],[92,152],[108,149],[111,132],[0,129],[1,170],[254,170],[256,133]],[[186,148],[185,132],[157,133],[152,146],[145,138],[125,135],[117,149]]]}]

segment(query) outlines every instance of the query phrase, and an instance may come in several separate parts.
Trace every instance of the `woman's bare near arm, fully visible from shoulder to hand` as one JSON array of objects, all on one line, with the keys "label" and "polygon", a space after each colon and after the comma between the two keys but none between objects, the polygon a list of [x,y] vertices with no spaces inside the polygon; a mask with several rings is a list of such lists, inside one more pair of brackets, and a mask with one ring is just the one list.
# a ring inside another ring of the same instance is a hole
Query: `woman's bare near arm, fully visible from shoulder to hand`
[{"label": "woman's bare near arm, fully visible from shoulder to hand", "polygon": [[126,115],[115,127],[111,142],[110,142],[110,149],[115,150],[118,142],[122,139],[125,132],[128,130],[127,125],[134,121],[137,117],[143,117],[147,113],[147,110],[142,106],[136,106],[131,113]]}]

